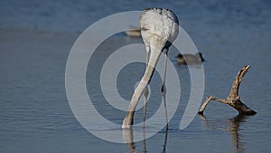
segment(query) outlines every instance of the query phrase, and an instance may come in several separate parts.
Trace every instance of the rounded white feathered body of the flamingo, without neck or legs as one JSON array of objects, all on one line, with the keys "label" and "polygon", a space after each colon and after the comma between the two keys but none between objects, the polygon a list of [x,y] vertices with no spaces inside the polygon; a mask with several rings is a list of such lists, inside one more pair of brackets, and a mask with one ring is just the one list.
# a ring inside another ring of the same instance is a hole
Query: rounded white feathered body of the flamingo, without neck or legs
[{"label": "rounded white feathered body of the flamingo, without neck or legs", "polygon": [[164,8],[145,9],[140,15],[139,24],[146,46],[150,46],[153,41],[160,43],[163,48],[169,48],[179,33],[177,16]]}]

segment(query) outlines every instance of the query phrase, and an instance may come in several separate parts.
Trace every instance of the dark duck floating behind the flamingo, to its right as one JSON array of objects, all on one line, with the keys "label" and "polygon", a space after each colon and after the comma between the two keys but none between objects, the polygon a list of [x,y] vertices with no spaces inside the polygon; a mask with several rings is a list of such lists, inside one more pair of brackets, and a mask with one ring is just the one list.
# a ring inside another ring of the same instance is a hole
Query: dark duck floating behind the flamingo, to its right
[{"label": "dark duck floating behind the flamingo, to its right", "polygon": [[201,64],[205,60],[202,57],[202,53],[196,54],[181,54],[179,53],[175,56],[177,63],[180,65],[192,65],[192,64]]}]

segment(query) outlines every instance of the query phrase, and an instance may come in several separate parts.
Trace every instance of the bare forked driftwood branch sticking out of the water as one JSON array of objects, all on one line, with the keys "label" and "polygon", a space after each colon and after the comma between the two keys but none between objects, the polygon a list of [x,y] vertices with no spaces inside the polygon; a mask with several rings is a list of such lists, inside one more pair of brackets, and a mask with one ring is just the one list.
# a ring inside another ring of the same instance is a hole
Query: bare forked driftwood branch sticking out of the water
[{"label": "bare forked driftwood branch sticking out of the water", "polygon": [[238,95],[238,90],[241,81],[243,80],[243,77],[245,74],[248,72],[248,69],[250,66],[244,66],[242,69],[238,72],[237,76],[235,77],[235,80],[232,83],[231,90],[229,92],[229,96],[225,100],[217,99],[213,96],[207,96],[207,99],[203,102],[201,105],[201,109],[199,110],[199,114],[203,114],[203,111],[207,107],[208,103],[210,100],[216,100],[221,103],[228,104],[229,106],[233,107],[234,109],[238,110],[239,114],[244,114],[244,115],[254,115],[257,114],[255,110],[252,110],[248,108],[247,105],[245,105],[241,100]]}]

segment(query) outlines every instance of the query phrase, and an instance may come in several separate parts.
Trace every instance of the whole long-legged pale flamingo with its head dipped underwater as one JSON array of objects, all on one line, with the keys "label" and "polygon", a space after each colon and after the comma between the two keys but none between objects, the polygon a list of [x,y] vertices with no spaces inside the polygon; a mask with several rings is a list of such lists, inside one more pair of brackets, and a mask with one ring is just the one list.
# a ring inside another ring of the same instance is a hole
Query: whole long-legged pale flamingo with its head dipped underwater
[{"label": "whole long-legged pale flamingo with its head dipped underwater", "polygon": [[164,81],[162,85],[162,94],[164,95],[164,109],[166,117],[166,128],[168,128],[168,117],[165,102],[165,75],[167,64],[167,53],[169,47],[176,39],[179,33],[179,21],[173,11],[164,8],[145,9],[139,18],[141,36],[145,43],[146,50],[146,68],[145,73],[139,84],[135,88],[122,128],[131,128],[134,121],[135,108],[140,97],[145,93],[145,105],[143,114],[143,123],[145,126],[146,102],[149,94],[146,88],[154,74],[154,68],[164,51]]}]

